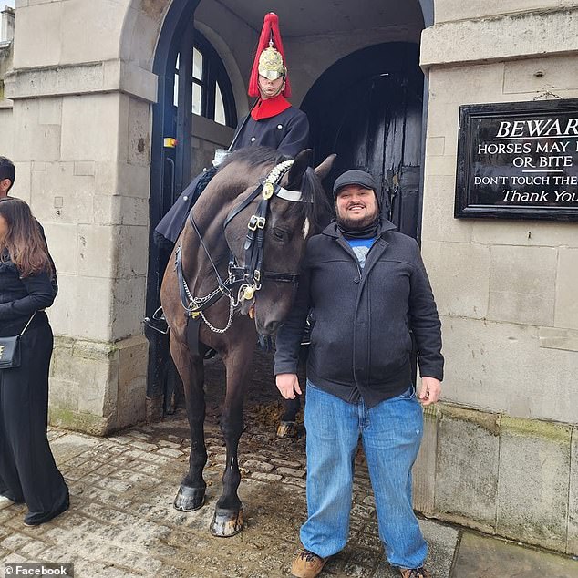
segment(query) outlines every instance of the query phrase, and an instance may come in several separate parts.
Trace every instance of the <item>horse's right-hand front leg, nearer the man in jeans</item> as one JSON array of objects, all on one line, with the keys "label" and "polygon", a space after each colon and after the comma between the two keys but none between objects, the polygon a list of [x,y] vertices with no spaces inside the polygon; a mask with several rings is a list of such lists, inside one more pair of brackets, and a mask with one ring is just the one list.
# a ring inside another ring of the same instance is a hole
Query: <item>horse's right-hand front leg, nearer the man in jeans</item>
[{"label": "horse's right-hand front leg, nearer the man in jeans", "polygon": [[222,538],[234,536],[243,529],[243,504],[237,495],[241,482],[237,450],[243,433],[244,386],[251,369],[255,340],[252,336],[238,337],[235,347],[223,356],[227,370],[227,393],[222,408],[221,430],[227,461],[222,475],[222,495],[211,522],[212,534]]}]

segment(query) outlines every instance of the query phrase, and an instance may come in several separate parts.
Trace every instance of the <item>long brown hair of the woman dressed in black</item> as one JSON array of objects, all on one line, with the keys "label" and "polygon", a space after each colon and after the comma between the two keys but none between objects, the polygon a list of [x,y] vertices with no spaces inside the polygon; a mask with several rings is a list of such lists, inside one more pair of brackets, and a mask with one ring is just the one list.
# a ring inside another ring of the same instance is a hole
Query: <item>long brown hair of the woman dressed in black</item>
[{"label": "long brown hair of the woman dressed in black", "polygon": [[8,232],[0,239],[0,262],[15,263],[22,277],[43,271],[51,274],[46,241],[26,202],[15,197],[0,199],[0,217],[8,225]]}]

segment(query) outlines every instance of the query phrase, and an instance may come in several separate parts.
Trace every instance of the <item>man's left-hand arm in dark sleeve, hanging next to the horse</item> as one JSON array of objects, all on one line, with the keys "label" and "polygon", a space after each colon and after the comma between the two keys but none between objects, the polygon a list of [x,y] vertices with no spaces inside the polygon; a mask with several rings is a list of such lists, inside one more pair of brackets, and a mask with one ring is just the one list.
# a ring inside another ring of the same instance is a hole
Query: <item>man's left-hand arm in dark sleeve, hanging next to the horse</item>
[{"label": "man's left-hand arm in dark sleeve, hanging next to the horse", "polygon": [[305,268],[299,279],[297,295],[275,338],[274,376],[277,388],[285,399],[293,399],[302,390],[297,378],[299,349],[309,313],[309,274]]}]

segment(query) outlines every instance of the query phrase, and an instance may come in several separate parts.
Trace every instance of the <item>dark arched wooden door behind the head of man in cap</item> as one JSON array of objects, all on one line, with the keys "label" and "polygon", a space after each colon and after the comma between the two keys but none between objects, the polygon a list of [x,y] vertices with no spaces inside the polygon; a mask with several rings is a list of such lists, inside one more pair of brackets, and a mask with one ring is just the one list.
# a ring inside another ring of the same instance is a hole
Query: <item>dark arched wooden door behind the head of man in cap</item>
[{"label": "dark arched wooden door behind the head of man in cap", "polygon": [[399,231],[418,239],[423,74],[418,46],[368,46],[330,67],[304,98],[315,161],[337,153],[329,182],[369,170]]}]

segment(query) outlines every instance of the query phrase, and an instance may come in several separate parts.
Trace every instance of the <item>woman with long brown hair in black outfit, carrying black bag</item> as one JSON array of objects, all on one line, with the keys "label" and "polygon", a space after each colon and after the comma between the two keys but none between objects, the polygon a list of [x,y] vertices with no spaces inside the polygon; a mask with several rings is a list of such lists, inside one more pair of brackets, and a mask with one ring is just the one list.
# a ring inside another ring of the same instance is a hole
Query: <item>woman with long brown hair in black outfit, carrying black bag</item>
[{"label": "woman with long brown hair in black outfit, carrying black bag", "polygon": [[68,508],[67,484],[46,438],[53,335],[44,309],[54,301],[55,280],[30,208],[19,199],[1,199],[0,336],[19,335],[27,327],[20,366],[0,369],[0,508],[25,501],[27,526]]}]

